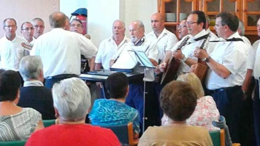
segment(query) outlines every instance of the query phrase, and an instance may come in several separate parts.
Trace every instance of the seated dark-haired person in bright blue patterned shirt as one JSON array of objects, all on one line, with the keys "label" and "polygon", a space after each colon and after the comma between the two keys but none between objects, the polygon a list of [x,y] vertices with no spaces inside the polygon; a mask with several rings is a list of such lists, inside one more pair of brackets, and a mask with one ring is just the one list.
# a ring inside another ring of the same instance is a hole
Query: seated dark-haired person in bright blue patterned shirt
[{"label": "seated dark-haired person in bright blue patterned shirt", "polygon": [[93,125],[120,125],[133,122],[135,137],[140,132],[140,118],[136,109],[125,104],[129,92],[128,78],[124,73],[111,74],[106,82],[110,99],[96,99],[89,114]]}]

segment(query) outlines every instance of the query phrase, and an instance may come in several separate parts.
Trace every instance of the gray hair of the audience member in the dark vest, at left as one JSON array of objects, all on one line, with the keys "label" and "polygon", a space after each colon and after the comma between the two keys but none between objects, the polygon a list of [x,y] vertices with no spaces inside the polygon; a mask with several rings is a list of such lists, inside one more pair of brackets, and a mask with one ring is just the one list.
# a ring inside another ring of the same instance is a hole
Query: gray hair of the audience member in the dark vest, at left
[{"label": "gray hair of the audience member in the dark vest, at left", "polygon": [[20,61],[19,73],[24,81],[37,79],[43,70],[43,63],[40,56],[25,56]]}]

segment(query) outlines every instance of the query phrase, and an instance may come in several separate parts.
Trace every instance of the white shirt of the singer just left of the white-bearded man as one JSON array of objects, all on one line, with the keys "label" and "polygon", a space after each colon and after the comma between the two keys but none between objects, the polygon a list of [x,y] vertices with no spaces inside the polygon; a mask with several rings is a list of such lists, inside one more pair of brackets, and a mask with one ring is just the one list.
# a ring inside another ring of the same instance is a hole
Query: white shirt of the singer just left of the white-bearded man
[{"label": "white shirt of the singer just left of the white-bearded man", "polygon": [[124,40],[117,46],[113,36],[103,40],[99,44],[95,63],[102,63],[103,68],[109,70],[109,62],[113,55],[129,41],[130,39],[124,36]]}]

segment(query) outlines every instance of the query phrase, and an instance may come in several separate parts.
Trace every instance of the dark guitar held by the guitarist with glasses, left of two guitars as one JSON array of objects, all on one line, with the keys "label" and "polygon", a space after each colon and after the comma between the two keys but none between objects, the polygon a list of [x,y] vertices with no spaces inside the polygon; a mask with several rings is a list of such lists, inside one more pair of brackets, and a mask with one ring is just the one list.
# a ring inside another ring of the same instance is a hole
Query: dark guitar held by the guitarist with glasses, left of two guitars
[{"label": "dark guitar held by the guitarist with glasses, left of two guitars", "polygon": [[[187,41],[189,40],[189,36],[187,36],[181,44],[178,46],[177,50],[182,50],[183,47],[186,46]],[[170,81],[173,81],[175,79],[175,76],[177,74],[177,70],[180,66],[181,60],[174,58],[171,56],[170,60],[168,61],[165,72],[163,73],[162,79],[161,79],[161,85],[165,85],[169,83]]]}]

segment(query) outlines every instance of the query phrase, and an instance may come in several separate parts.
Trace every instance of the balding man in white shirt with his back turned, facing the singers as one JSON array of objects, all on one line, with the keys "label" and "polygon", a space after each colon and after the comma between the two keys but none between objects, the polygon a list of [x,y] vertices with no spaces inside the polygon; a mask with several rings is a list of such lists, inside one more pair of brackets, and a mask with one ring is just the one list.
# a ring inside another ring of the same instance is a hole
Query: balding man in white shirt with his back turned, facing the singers
[{"label": "balding man in white shirt with his back turned, facing the singers", "polygon": [[84,36],[66,31],[66,15],[53,12],[50,16],[51,31],[35,42],[32,55],[43,60],[45,86],[51,88],[55,82],[80,75],[80,54],[92,58],[97,48]]}]

